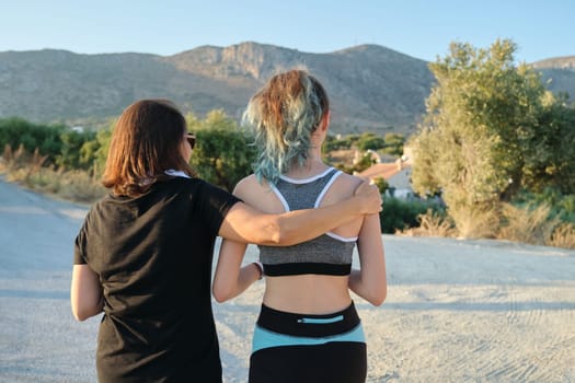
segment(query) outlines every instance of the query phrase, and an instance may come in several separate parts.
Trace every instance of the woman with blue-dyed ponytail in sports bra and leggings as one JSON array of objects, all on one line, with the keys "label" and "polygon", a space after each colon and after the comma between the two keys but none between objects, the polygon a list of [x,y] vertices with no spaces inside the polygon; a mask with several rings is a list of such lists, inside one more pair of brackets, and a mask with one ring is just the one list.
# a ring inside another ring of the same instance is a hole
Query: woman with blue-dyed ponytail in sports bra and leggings
[{"label": "woman with blue-dyed ponytail in sports bra and leggings", "polygon": [[[303,70],[274,76],[250,101],[244,125],[258,156],[234,194],[268,213],[338,204],[361,179],[322,161],[330,102]],[[360,269],[352,269],[357,245]],[[371,304],[386,299],[386,262],[378,214],[349,220],[287,247],[258,246],[261,263],[241,267],[245,244],[225,240],[212,293],[222,302],[265,276],[249,380],[365,382],[367,351],[349,290]]]}]

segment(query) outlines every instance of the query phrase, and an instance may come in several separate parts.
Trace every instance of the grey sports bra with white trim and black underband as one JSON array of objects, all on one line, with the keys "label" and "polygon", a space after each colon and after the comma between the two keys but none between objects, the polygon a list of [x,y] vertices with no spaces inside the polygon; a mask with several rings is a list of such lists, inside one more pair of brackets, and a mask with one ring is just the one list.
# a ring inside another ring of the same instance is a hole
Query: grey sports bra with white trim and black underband
[{"label": "grey sports bra with white trim and black underband", "polygon": [[[306,179],[280,176],[277,184],[271,187],[286,211],[318,208],[341,174],[341,171],[330,167]],[[260,259],[264,274],[271,277],[303,274],[346,276],[352,270],[356,241],[357,236],[344,237],[330,232],[294,246],[260,245]]]}]

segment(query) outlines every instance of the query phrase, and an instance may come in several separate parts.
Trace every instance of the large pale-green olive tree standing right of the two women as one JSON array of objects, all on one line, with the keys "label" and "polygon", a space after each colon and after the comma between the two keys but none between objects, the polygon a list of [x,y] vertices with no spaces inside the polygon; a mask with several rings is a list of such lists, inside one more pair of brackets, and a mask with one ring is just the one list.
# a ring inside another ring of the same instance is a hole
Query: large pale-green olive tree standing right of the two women
[{"label": "large pale-green olive tree standing right of the two women", "polygon": [[483,236],[502,200],[525,186],[524,171],[545,93],[540,76],[516,66],[516,45],[490,49],[452,43],[450,55],[429,65],[436,84],[412,139],[412,179],[419,194],[441,192],[464,236]]}]

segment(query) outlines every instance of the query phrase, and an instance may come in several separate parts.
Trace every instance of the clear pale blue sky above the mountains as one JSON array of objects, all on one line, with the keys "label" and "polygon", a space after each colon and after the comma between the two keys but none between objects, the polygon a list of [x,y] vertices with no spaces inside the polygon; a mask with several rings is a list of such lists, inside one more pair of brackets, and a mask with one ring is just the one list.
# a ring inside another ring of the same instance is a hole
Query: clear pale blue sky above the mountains
[{"label": "clear pale blue sky above the mountains", "polygon": [[574,0],[4,0],[0,51],[171,56],[243,42],[306,53],[376,44],[435,61],[451,42],[517,44],[517,61],[575,56]]}]

